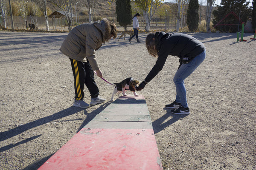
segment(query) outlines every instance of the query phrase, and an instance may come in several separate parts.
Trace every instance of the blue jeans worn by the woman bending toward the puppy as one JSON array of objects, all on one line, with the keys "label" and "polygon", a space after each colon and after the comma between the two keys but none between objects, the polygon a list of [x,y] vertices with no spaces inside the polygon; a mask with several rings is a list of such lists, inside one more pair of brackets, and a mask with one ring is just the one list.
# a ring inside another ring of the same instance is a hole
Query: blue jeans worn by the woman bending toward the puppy
[{"label": "blue jeans worn by the woman bending toward the puppy", "polygon": [[186,88],[184,80],[192,74],[195,69],[204,61],[206,57],[206,51],[196,56],[192,61],[187,64],[182,64],[177,70],[173,82],[176,86],[176,102],[180,103],[184,108],[188,107],[186,100]]}]

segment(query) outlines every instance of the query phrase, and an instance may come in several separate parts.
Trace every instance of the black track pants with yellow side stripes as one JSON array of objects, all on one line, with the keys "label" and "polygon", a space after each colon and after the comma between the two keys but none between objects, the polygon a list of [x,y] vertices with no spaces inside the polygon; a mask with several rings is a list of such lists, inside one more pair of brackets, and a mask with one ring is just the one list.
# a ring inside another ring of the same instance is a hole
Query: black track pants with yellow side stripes
[{"label": "black track pants with yellow side stripes", "polygon": [[75,99],[84,99],[84,84],[88,88],[92,98],[99,96],[99,88],[94,81],[94,72],[89,61],[80,62],[71,58],[70,61],[74,75]]}]

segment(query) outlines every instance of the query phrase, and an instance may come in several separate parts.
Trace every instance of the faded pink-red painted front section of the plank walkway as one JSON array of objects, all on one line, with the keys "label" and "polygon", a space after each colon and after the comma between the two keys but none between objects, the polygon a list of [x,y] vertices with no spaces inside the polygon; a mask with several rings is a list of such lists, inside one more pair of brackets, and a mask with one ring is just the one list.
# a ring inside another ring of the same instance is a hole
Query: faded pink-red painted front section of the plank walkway
[{"label": "faded pink-red painted front section of the plank walkway", "polygon": [[83,128],[38,170],[163,170],[153,129]]}]

